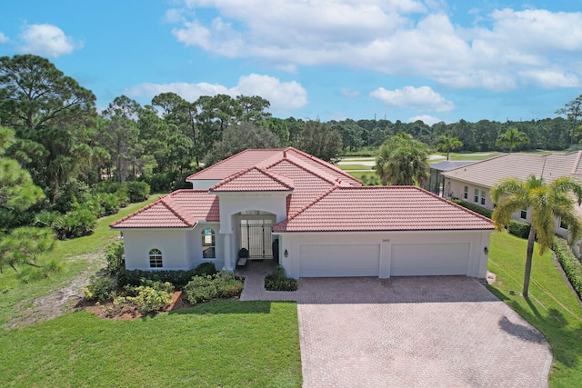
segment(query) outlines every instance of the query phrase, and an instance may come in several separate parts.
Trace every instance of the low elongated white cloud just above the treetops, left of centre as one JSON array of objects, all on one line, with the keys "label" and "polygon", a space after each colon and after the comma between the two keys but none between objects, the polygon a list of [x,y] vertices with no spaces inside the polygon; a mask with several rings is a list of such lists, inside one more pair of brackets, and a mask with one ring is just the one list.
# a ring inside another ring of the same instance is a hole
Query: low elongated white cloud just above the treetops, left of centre
[{"label": "low elongated white cloud just above the treetops, left of centre", "polygon": [[130,96],[146,95],[154,97],[160,93],[173,92],[186,101],[196,101],[201,95],[260,95],[271,103],[270,110],[286,113],[307,104],[307,92],[295,81],[281,82],[269,75],[245,75],[238,79],[234,87],[217,84],[139,84],[125,89]]}]

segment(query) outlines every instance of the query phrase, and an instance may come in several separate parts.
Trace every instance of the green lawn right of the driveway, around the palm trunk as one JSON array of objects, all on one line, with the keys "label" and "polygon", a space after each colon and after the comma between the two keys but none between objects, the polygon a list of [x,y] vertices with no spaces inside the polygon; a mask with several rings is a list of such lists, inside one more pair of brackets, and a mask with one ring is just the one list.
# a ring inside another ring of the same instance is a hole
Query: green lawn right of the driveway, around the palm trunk
[{"label": "green lawn right of the driveway, around the palm trunk", "polygon": [[536,252],[529,299],[523,287],[527,241],[507,233],[491,235],[489,270],[497,283],[489,289],[543,333],[552,347],[551,387],[574,387],[582,382],[582,309],[552,259]]}]

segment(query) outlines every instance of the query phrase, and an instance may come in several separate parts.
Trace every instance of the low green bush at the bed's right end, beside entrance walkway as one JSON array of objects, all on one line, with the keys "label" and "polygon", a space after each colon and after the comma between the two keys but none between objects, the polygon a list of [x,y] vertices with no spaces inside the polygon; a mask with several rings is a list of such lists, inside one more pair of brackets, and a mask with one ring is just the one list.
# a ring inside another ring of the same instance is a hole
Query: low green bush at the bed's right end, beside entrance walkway
[{"label": "low green bush at the bed's right end, beside entrance walkway", "polygon": [[184,293],[192,304],[207,302],[216,298],[230,298],[243,291],[243,280],[235,274],[220,272],[213,275],[194,276]]}]

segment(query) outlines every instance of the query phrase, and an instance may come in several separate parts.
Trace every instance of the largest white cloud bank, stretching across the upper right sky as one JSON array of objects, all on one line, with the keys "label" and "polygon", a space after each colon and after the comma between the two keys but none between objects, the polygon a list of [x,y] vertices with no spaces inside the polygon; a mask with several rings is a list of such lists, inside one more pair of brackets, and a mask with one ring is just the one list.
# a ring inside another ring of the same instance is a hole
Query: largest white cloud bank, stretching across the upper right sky
[{"label": "largest white cloud bank, stretching across the upper right sky", "polygon": [[[582,78],[582,13],[469,10],[473,20],[462,26],[443,12],[446,4],[432,0],[183,4],[172,10],[179,42],[215,55],[263,58],[293,72],[302,65],[342,65],[495,91],[571,87],[564,80]],[[196,12],[204,8],[216,16],[204,19]],[[548,73],[554,75],[531,76]]]}]

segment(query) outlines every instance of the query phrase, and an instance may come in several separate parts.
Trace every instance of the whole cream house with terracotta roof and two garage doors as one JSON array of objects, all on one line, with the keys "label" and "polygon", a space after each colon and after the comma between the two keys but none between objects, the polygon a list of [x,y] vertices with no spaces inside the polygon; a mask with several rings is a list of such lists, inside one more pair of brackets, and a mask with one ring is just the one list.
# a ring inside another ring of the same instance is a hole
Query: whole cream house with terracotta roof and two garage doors
[{"label": "whole cream house with terracotta roof and two garage doors", "polygon": [[487,274],[493,224],[413,186],[363,187],[295,148],[246,150],[111,224],[127,269],[234,270],[275,259],[294,278]]}]

